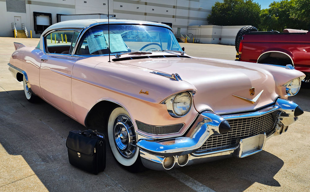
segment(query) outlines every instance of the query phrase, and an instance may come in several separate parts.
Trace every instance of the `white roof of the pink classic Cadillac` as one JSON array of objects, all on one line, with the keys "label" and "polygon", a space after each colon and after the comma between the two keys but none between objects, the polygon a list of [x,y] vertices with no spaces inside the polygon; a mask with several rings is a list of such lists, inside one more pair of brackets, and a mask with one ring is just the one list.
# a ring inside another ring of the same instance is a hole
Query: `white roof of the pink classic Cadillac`
[{"label": "white roof of the pink classic Cadillac", "polygon": [[[83,20],[69,20],[69,21],[62,21],[59,23],[52,24],[49,26],[45,31],[42,33],[45,34],[47,31],[58,29],[58,28],[86,28],[91,24],[101,24],[101,23],[108,23],[107,19],[83,19]],[[150,21],[137,21],[137,20],[121,20],[121,19],[110,19],[110,23],[141,23],[141,24],[155,24],[155,25],[162,25],[165,27],[169,27],[166,24],[150,22]],[[170,27],[169,27],[170,28]]]}]

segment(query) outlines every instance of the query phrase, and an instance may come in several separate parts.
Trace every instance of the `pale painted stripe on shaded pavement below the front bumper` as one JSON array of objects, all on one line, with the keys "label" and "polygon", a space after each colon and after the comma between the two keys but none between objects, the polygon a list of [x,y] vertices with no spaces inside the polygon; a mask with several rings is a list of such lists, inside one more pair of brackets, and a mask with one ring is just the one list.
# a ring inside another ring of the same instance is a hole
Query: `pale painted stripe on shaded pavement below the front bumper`
[{"label": "pale painted stripe on shaded pavement below the front bumper", "polygon": [[183,172],[180,172],[176,169],[166,171],[166,173],[168,173],[169,175],[176,178],[177,180],[184,183],[185,185],[187,185],[188,187],[192,188],[195,191],[215,192],[214,190],[210,189],[206,185],[199,183],[198,181],[196,181],[192,177],[189,177],[188,175],[186,175]]}]

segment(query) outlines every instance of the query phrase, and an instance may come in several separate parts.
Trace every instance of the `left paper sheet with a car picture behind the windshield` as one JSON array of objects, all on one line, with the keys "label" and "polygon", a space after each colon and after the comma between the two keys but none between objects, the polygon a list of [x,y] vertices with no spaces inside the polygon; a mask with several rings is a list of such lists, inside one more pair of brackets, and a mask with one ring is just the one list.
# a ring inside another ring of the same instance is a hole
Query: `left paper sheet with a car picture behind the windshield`
[{"label": "left paper sheet with a car picture behind the windshield", "polygon": [[95,51],[107,49],[103,31],[92,31],[91,34],[86,36],[86,41],[90,54],[94,53]]}]

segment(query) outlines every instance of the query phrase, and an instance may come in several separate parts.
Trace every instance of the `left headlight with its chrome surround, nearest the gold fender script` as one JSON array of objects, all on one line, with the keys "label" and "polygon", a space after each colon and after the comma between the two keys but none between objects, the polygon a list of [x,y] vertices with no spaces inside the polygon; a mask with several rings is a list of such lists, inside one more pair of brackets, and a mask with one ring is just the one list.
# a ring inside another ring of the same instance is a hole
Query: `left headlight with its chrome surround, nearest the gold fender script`
[{"label": "left headlight with its chrome surround, nearest the gold fender script", "polygon": [[193,92],[174,94],[162,102],[167,106],[168,113],[173,117],[182,117],[188,113],[193,103]]}]

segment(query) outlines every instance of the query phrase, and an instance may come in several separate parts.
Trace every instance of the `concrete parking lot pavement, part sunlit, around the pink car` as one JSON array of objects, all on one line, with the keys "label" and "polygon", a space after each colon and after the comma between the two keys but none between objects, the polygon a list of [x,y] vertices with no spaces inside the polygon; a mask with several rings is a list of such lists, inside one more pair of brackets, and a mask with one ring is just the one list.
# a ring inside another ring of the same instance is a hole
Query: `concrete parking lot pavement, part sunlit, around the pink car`
[{"label": "concrete parking lot pavement, part sunlit, around the pink car", "polygon": [[[69,164],[65,139],[84,130],[51,105],[29,103],[22,83],[7,70],[13,42],[36,46],[38,39],[0,37],[0,191],[309,191],[310,85],[290,99],[305,113],[287,133],[243,159],[130,173],[107,150],[104,172],[93,175]],[[182,43],[189,55],[235,59],[234,46]]]}]

